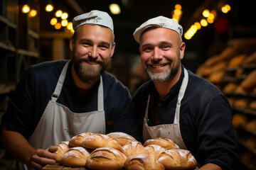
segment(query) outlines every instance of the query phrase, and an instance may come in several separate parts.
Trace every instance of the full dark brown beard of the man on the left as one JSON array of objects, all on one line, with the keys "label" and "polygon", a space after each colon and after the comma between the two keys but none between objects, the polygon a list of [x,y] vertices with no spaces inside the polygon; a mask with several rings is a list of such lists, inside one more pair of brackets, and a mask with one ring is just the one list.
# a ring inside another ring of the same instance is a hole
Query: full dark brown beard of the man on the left
[{"label": "full dark brown beard of the man on the left", "polygon": [[[85,63],[88,62],[98,62],[98,66],[90,66],[90,64]],[[100,79],[100,75],[102,75],[107,68],[111,65],[111,57],[108,57],[104,62],[100,57],[96,59],[87,56],[83,58],[76,57],[73,52],[73,62],[76,74],[83,83],[87,84],[95,84]]]}]

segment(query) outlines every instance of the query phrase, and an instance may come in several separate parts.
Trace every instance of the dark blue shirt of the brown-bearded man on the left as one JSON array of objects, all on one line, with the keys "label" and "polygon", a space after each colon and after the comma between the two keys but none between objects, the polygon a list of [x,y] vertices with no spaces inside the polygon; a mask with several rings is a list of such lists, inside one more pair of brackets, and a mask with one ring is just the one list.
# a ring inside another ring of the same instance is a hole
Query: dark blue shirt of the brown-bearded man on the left
[{"label": "dark blue shirt of the brown-bearded man on the left", "polygon": [[[19,81],[3,117],[11,130],[30,137],[36,129],[43,111],[55,90],[60,73],[67,60],[44,62],[30,67]],[[97,111],[97,91],[100,81],[92,91],[80,96],[71,76],[71,64],[57,102],[74,113]],[[105,72],[102,75],[106,133],[126,132],[140,140],[134,103],[127,87]]]}]

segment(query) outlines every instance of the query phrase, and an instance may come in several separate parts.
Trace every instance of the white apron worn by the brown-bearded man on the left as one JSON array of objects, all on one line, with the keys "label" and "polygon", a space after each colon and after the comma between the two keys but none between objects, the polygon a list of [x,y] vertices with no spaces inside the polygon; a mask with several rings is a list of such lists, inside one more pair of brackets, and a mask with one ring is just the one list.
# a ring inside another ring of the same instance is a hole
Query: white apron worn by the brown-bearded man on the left
[{"label": "white apron worn by the brown-bearded man on the left", "polygon": [[[36,149],[47,149],[62,141],[69,141],[71,137],[82,132],[93,132],[105,134],[105,111],[102,77],[97,96],[97,109],[89,113],[73,113],[67,107],[57,103],[58,96],[65,80],[68,69],[65,64],[58,79],[58,84],[51,100],[48,102],[45,111],[28,142]],[[56,97],[55,97],[56,96]]]}]

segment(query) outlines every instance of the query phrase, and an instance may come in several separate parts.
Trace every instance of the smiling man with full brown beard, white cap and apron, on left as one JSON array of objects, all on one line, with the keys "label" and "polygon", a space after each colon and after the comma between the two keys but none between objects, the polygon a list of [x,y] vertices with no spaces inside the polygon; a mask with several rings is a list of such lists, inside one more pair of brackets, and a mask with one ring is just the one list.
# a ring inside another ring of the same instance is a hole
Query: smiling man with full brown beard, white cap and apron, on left
[{"label": "smiling man with full brown beard, white cap and apron, on left", "polygon": [[2,120],[4,147],[30,169],[55,164],[47,148],[82,132],[126,132],[140,140],[127,87],[105,72],[115,47],[112,18],[90,11],[75,17],[73,28],[72,60],[30,67]]}]

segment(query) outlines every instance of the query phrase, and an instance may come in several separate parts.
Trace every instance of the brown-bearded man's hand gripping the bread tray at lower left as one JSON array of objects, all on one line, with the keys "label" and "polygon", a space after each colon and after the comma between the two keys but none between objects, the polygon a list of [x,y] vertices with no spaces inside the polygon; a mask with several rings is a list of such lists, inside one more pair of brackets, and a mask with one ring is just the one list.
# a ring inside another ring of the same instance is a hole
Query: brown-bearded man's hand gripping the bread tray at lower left
[{"label": "brown-bearded man's hand gripping the bread tray at lower left", "polygon": [[55,146],[49,147],[46,150],[36,149],[36,152],[34,152],[29,161],[29,169],[42,169],[43,166],[46,166],[46,164],[55,164],[56,157],[53,152],[55,152],[57,149],[58,148]]}]

